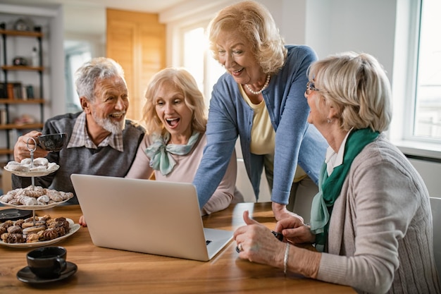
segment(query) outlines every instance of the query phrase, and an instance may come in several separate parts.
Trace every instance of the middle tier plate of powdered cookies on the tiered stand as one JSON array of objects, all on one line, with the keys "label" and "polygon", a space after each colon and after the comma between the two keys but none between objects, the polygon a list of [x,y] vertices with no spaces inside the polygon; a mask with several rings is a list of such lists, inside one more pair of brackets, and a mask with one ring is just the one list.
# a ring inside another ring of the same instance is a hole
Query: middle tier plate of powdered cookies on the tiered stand
[{"label": "middle tier plate of powdered cookies on the tiered stand", "polygon": [[73,197],[72,192],[62,192],[32,185],[17,188],[0,196],[0,203],[22,210],[40,210],[56,207]]}]

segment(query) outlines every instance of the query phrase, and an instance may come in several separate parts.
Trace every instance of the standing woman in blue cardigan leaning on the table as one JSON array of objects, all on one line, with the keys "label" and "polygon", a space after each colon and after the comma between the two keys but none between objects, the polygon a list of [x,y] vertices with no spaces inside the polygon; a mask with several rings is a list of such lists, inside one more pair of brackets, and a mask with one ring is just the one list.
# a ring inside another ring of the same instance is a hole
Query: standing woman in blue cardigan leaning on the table
[{"label": "standing woman in blue cardigan leaning on the table", "polygon": [[328,147],[306,122],[306,71],[316,54],[306,46],[285,46],[271,13],[255,1],[219,11],[211,20],[209,41],[226,73],[211,94],[207,145],[193,182],[199,205],[216,190],[240,136],[256,198],[265,168],[275,218],[290,216],[289,200],[293,205],[296,194],[312,199],[318,191]]}]

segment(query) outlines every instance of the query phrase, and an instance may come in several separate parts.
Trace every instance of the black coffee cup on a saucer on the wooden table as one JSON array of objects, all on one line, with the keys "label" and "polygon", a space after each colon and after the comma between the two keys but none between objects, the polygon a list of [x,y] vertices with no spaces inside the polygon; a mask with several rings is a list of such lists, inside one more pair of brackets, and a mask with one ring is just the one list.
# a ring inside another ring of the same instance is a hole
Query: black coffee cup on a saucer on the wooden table
[{"label": "black coffee cup on a saucer on the wooden table", "polygon": [[66,255],[60,246],[37,248],[27,253],[27,265],[39,278],[58,278],[66,269]]}]

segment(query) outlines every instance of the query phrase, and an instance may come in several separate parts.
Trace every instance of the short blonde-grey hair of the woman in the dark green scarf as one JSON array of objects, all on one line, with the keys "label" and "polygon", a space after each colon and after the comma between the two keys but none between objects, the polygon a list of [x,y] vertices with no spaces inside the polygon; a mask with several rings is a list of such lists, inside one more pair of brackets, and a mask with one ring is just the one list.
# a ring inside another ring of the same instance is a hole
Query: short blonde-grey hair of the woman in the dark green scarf
[{"label": "short blonde-grey hair of the woman in the dark green scarf", "polygon": [[387,130],[392,118],[390,82],[383,66],[369,54],[344,52],[309,68],[325,102],[337,109],[343,130]]}]

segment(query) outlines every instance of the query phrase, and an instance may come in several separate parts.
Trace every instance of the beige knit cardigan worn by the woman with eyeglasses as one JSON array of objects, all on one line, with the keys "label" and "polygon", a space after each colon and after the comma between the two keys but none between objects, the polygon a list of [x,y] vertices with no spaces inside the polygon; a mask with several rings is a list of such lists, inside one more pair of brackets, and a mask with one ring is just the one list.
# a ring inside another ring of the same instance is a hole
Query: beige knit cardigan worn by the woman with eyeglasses
[{"label": "beige knit cardigan worn by the woman with eyeglasses", "polygon": [[322,281],[359,293],[440,293],[426,185],[383,134],[354,159],[344,180],[328,252],[318,270]]}]

